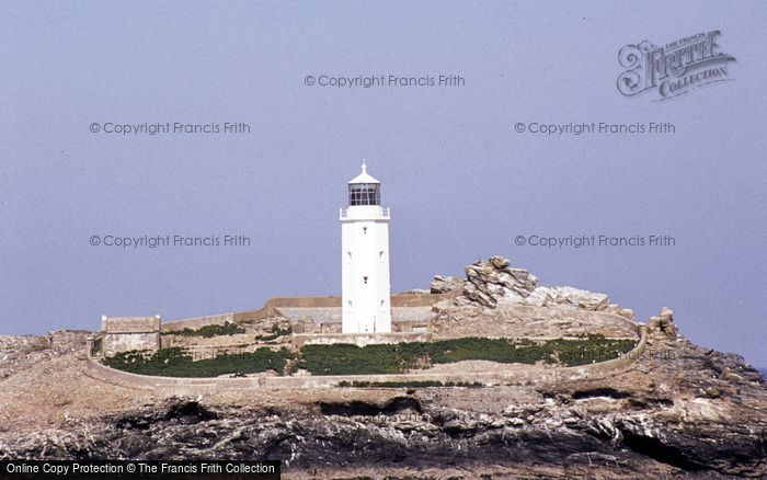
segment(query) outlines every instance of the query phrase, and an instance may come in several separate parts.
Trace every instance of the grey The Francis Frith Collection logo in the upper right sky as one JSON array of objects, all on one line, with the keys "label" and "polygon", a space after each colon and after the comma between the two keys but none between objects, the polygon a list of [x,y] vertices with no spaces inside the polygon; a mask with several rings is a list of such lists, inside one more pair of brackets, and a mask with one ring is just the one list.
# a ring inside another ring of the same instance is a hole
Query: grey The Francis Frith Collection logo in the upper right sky
[{"label": "grey The Francis Frith Collection logo in the upper right sky", "polygon": [[699,33],[664,46],[648,41],[626,45],[618,61],[628,70],[618,77],[618,91],[626,96],[650,93],[660,101],[732,80],[728,64],[735,57],[721,52],[717,43],[720,34],[718,30]]}]

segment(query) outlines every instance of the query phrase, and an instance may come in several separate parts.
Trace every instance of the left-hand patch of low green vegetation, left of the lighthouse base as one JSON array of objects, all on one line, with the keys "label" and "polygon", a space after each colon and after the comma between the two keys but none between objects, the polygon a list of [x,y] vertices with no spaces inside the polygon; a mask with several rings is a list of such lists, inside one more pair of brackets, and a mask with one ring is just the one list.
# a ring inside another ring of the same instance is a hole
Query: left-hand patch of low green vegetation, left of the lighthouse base
[{"label": "left-hand patch of low green vegetation, left of the lighthouse base", "polygon": [[282,374],[293,355],[286,348],[273,351],[263,347],[255,352],[224,354],[194,362],[185,348],[174,346],[153,353],[121,352],[104,358],[104,365],[134,374],[165,377],[217,377],[225,374],[243,376],[270,369]]}]

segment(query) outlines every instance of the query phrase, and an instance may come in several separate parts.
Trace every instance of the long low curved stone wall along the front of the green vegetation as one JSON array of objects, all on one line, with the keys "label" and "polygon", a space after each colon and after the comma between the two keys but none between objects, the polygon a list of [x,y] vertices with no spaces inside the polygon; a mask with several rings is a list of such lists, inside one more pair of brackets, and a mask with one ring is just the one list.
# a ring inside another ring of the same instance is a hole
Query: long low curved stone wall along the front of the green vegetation
[{"label": "long low curved stone wall along the front of the green vegetation", "polygon": [[[502,384],[550,384],[568,380],[595,380],[616,375],[631,366],[644,354],[646,347],[646,327],[639,327],[640,341],[627,354],[607,362],[579,367],[554,367],[537,370],[510,370],[477,374],[398,374],[398,375],[346,375],[346,376],[299,376],[271,377],[257,376],[247,378],[179,378],[137,375],[110,368],[93,358],[87,357],[87,374],[102,381],[126,388],[152,391],[159,396],[191,396],[238,390],[301,389],[336,387],[341,381],[370,382],[481,382],[485,386]],[[91,342],[89,342],[91,346]],[[89,348],[90,352],[90,348]]]}]

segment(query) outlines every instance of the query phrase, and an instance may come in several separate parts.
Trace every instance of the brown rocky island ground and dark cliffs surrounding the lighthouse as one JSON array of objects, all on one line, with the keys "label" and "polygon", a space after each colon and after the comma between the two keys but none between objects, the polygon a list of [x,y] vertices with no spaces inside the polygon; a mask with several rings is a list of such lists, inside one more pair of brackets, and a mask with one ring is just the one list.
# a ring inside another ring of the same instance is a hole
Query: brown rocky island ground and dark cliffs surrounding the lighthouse
[{"label": "brown rocky island ground and dark cliffs surrounding the lighthouse", "polygon": [[[685,339],[671,309],[643,324],[604,294],[540,286],[503,258],[466,274],[409,293],[434,301],[426,317],[402,307],[411,318],[402,313],[399,329],[423,325],[433,344],[514,339],[504,348],[533,345],[542,356],[491,357],[458,346],[423,350],[422,342],[398,351],[411,352],[396,368],[407,381],[355,381],[352,373],[311,387],[294,384],[324,378],[295,338],[312,329],[332,335],[332,312],[317,310],[318,321],[275,308],[232,317],[236,328],[209,338],[163,332],[162,342],[179,348],[218,352],[242,336],[293,352],[279,367],[221,375],[264,388],[195,392],[192,384],[178,390],[104,378],[89,363],[105,361],[87,351],[91,332],[3,336],[0,458],[277,459],[296,479],[767,476],[765,379],[742,357]],[[589,342],[608,356],[563,355],[592,352]],[[458,374],[478,381],[433,380]]]}]

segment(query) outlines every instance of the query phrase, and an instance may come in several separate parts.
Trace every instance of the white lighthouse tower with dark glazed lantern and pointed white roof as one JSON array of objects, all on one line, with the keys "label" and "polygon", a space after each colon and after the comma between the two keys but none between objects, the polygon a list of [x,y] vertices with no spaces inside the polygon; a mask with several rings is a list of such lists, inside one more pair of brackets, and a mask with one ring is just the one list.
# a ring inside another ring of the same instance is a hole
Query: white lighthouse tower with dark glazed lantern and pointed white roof
[{"label": "white lighthouse tower with dark glazed lantern and pointed white roof", "polygon": [[348,182],[341,208],[343,333],[391,332],[389,209],[381,207],[381,182],[363,172]]}]

